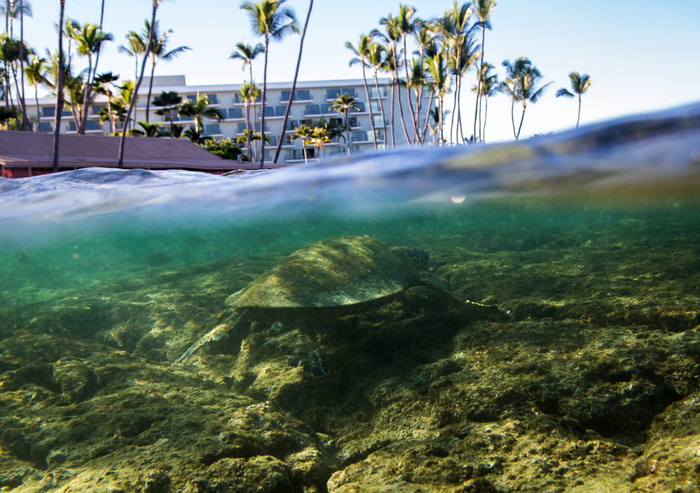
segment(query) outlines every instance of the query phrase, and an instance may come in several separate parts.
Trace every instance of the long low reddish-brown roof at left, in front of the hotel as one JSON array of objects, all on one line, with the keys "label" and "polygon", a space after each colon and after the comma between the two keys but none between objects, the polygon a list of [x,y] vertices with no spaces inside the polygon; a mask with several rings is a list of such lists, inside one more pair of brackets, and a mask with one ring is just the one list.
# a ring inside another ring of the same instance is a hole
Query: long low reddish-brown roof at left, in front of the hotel
[{"label": "long low reddish-brown roof at left, in front of the hotel", "polygon": [[[119,139],[120,137],[61,134],[59,168],[115,168],[119,158]],[[53,134],[0,131],[0,167],[8,171],[52,168]],[[127,137],[124,168],[224,172],[257,169],[258,165],[222,159],[187,139]]]}]

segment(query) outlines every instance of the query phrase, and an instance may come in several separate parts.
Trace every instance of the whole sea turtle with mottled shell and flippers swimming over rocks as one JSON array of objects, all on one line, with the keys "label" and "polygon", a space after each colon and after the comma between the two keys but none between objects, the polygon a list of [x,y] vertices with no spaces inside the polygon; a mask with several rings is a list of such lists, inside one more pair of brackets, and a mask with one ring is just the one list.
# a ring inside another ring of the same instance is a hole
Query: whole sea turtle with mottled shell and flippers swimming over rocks
[{"label": "whole sea turtle with mottled shell and flippers swimming over rocks", "polygon": [[[408,310],[458,306],[472,319],[497,316],[493,307],[454,298],[443,281],[427,271],[422,250],[389,248],[370,236],[329,238],[292,253],[232,294],[226,305],[233,322],[210,331],[180,356],[181,364],[197,353],[235,352],[239,380],[255,378],[251,368],[265,363],[278,373],[300,368],[322,376],[329,368],[319,336],[332,331],[339,317],[362,313],[400,298]],[[324,341],[328,341],[325,338]],[[238,347],[236,347],[238,346]],[[272,365],[274,366],[274,365]]]}]

